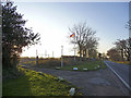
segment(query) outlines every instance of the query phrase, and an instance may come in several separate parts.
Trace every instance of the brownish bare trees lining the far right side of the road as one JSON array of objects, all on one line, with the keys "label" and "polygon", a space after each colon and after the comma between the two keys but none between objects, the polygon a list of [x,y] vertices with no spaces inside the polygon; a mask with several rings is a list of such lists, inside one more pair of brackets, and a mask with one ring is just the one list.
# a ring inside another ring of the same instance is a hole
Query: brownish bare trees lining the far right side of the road
[{"label": "brownish bare trees lining the far right side of the road", "polygon": [[107,54],[114,61],[131,61],[131,37],[118,39],[115,47],[107,51]]}]

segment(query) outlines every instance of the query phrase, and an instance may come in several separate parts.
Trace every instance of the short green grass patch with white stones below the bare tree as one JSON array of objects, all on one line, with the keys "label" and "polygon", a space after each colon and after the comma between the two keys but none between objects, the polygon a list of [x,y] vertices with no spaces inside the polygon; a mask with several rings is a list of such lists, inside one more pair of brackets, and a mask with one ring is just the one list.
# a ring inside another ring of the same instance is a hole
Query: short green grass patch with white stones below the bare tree
[{"label": "short green grass patch with white stones below the bare tree", "polygon": [[[98,65],[100,65],[100,68],[97,68]],[[63,68],[61,68],[61,70],[69,70],[72,71],[73,68],[78,68],[78,71],[83,71],[83,69],[87,69],[87,71],[95,71],[95,70],[99,70],[99,69],[106,69],[107,66],[105,65],[105,63],[103,61],[85,61],[85,62],[78,62],[74,65],[63,65]],[[97,68],[97,69],[95,69]]]}]

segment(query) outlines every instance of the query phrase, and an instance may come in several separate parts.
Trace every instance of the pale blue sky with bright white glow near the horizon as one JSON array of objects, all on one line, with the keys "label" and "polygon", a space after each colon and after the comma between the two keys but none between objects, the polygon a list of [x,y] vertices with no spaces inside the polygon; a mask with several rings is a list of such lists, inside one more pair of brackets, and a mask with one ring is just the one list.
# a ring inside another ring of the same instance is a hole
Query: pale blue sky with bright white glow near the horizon
[{"label": "pale blue sky with bright white glow near the horizon", "polygon": [[[129,20],[128,2],[14,2],[17,12],[27,20],[25,26],[40,34],[40,44],[24,48],[22,57],[73,56],[74,45],[70,44],[69,27],[86,22],[99,38],[98,52],[107,52],[117,39],[127,39],[124,27]],[[53,52],[53,54],[52,54]]]}]

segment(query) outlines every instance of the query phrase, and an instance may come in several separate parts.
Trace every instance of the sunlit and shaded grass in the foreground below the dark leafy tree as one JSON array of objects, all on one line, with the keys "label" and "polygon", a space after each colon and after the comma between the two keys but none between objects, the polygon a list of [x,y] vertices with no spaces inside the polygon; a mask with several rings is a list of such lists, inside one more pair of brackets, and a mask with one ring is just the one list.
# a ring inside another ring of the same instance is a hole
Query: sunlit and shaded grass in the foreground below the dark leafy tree
[{"label": "sunlit and shaded grass in the foreground below the dark leafy tree", "polygon": [[[4,81],[2,84],[3,96],[69,96],[72,85],[60,82],[58,77],[32,70],[19,68],[24,75]],[[80,93],[75,94],[81,95]]]}]

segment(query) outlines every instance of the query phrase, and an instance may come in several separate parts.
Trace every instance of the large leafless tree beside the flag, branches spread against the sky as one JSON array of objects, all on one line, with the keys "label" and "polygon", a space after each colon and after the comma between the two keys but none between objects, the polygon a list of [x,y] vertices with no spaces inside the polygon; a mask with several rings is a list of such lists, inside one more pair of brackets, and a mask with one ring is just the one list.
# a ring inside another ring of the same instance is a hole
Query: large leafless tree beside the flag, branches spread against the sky
[{"label": "large leafless tree beside the flag, branches spread against the sky", "polygon": [[72,28],[69,27],[70,34],[74,34],[74,39],[71,39],[72,44],[76,44],[79,47],[80,60],[83,57],[87,57],[87,52],[96,49],[98,45],[98,38],[95,37],[96,32],[86,25],[86,22],[74,24]]}]

